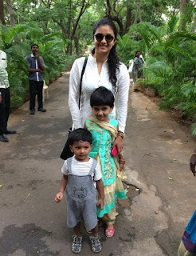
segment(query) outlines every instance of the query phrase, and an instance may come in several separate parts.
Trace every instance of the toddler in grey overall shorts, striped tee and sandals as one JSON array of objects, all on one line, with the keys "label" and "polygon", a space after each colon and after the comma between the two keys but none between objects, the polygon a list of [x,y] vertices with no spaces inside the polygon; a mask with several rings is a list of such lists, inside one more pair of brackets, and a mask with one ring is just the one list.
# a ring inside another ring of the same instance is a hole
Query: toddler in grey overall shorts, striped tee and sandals
[{"label": "toddler in grey overall shorts, striped tee and sandals", "polygon": [[[70,150],[74,156],[65,160],[61,169],[63,177],[59,192],[55,197],[60,202],[66,189],[67,194],[67,225],[73,228],[73,253],[80,253],[82,234],[80,221],[84,218],[87,230],[92,230],[90,241],[92,251],[100,252],[101,245],[98,238],[96,206],[104,208],[104,186],[100,166],[95,159],[88,157],[92,148],[92,134],[86,129],[76,129],[69,134]],[[96,189],[99,200],[96,200]]]}]

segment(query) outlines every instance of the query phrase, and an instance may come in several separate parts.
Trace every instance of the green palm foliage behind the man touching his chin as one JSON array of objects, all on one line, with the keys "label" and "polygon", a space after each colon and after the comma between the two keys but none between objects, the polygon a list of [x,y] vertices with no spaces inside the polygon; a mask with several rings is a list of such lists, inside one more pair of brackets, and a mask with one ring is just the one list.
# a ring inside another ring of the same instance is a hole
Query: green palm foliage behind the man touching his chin
[{"label": "green palm foliage behind the man touching his chin", "polygon": [[[14,28],[0,26],[1,49],[7,54],[11,93],[11,107],[24,102],[29,90],[26,57],[31,54],[32,43],[39,45],[39,54],[45,61],[45,82],[53,82],[62,71],[69,70],[76,56],[65,54],[66,40],[61,32],[43,34],[37,24],[30,22]],[[1,72],[0,72],[1,76]]]}]

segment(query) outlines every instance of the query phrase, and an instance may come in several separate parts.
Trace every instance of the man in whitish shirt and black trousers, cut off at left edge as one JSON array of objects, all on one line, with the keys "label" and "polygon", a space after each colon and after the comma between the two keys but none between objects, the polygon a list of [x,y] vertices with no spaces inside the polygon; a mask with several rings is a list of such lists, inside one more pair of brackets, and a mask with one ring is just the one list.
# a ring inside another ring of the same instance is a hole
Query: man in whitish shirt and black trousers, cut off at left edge
[{"label": "man in whitish shirt and black trousers, cut off at left edge", "polygon": [[6,71],[6,53],[0,50],[0,141],[9,142],[6,134],[16,134],[16,130],[8,130],[7,122],[10,115],[10,83]]}]

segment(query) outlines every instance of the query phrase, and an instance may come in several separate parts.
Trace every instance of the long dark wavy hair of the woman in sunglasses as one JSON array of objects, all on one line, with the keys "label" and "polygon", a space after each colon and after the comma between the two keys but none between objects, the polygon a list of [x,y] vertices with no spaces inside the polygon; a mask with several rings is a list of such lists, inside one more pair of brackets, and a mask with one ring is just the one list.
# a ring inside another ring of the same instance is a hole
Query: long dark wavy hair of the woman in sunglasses
[{"label": "long dark wavy hair of the woman in sunglasses", "polygon": [[[100,26],[110,26],[114,32],[115,38],[118,34],[115,24],[108,18],[101,18],[98,22],[96,22],[96,25],[93,29],[93,36],[96,33],[96,30]],[[92,49],[92,54],[95,54],[95,48]],[[116,53],[116,43],[114,46],[112,46],[112,49],[110,50],[109,56],[108,56],[108,68],[109,68],[109,81],[112,82],[112,88],[113,91],[116,91],[116,70],[119,70],[120,66],[120,59],[117,56]]]}]

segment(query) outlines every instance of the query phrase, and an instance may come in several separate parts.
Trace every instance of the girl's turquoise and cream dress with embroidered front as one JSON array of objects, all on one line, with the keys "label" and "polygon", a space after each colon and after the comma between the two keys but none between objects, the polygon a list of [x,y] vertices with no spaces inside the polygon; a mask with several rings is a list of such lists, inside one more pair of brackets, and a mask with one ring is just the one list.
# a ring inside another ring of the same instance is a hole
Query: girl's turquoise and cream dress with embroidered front
[{"label": "girl's turquoise and cream dress with embroidered front", "polygon": [[[110,119],[109,125],[117,129],[117,120]],[[86,128],[92,134],[92,150],[89,153],[91,158],[95,158],[100,162],[102,171],[102,180],[104,183],[104,209],[97,208],[98,217],[103,217],[115,207],[117,198],[125,199],[126,193],[123,189],[121,178],[117,177],[119,166],[112,157],[112,133],[110,130],[100,127],[89,119],[85,122]]]}]

